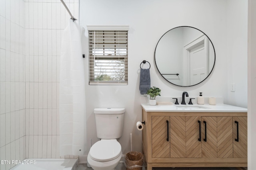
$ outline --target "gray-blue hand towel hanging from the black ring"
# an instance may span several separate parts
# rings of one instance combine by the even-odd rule
[[[140,94],[147,94],[150,88],[150,72],[148,69],[140,69]]]

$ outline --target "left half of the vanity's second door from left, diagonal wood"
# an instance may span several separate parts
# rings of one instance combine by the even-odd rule
[[[170,117],[170,157],[186,158],[186,117]]]

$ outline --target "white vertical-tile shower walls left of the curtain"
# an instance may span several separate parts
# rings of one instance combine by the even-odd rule
[[[65,2],[78,18],[78,0]],[[0,0],[0,160],[60,157],[58,69],[69,18],[59,0]]]

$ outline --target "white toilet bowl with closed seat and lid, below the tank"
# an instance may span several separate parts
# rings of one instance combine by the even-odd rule
[[[122,158],[122,148],[116,139],[102,139],[92,145],[87,162],[94,170],[115,170]]]

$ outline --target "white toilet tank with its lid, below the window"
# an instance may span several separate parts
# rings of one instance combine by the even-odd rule
[[[124,127],[124,108],[95,108],[97,137],[100,139],[118,139]]]

